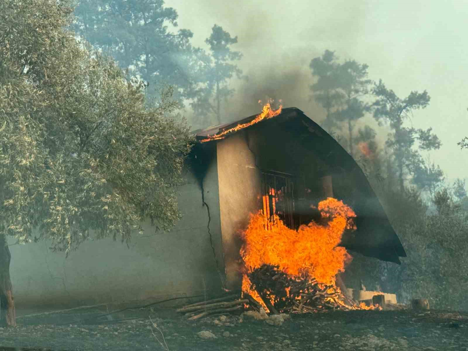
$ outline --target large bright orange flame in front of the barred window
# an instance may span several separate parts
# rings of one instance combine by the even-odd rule
[[[334,285],[336,273],[344,271],[345,264],[351,260],[346,249],[337,245],[356,214],[342,201],[331,197],[320,202],[318,209],[322,217],[330,218],[327,225],[311,222],[297,231],[286,227],[276,214],[273,214],[276,225],[266,230],[262,211],[251,215],[241,248],[247,271],[262,264],[278,265],[288,275],[300,277],[308,273],[320,283]],[[250,293],[250,289],[246,292]]]

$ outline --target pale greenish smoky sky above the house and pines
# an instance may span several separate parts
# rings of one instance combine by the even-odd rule
[[[256,114],[259,99],[282,99],[317,123],[324,111],[310,101],[310,60],[329,49],[344,59],[369,65],[369,78],[382,79],[404,98],[427,90],[430,105],[407,123],[432,127],[442,141],[431,160],[447,181],[468,178],[468,150],[457,142],[468,136],[468,1],[359,0],[166,0],[178,14],[179,28],[204,40],[213,24],[238,37],[239,67],[248,81],[233,81],[231,120]],[[367,121],[372,123],[369,117]],[[380,134],[381,139],[386,133]],[[428,156],[424,154],[424,156]]]

